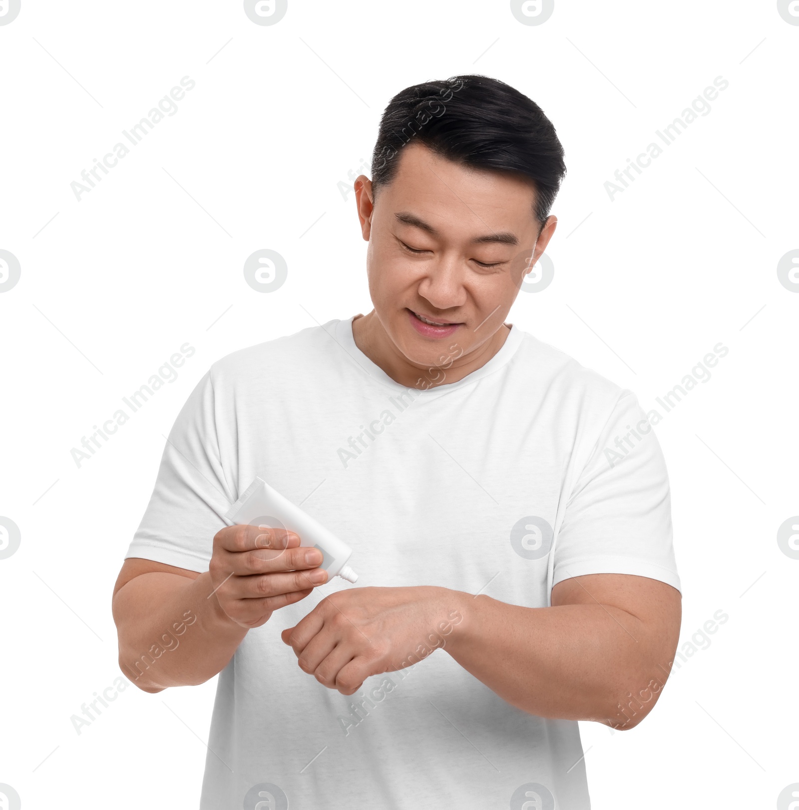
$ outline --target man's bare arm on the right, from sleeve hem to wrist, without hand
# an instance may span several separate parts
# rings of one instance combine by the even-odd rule
[[[619,730],[640,723],[657,702],[682,613],[672,586],[618,573],[559,582],[551,608],[482,595],[462,603],[464,620],[444,649],[499,697],[540,717]]]

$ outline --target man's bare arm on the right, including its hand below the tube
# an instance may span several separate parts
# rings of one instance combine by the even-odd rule
[[[283,641],[303,671],[343,694],[440,646],[530,714],[627,729],[661,693],[680,616],[678,590],[627,574],[560,582],[550,608],[430,586],[355,588],[323,599]]]

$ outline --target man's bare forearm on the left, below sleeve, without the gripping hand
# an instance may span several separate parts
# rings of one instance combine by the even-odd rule
[[[119,663],[146,692],[202,684],[230,661],[247,629],[219,607],[209,573],[142,573],[113,598]]]

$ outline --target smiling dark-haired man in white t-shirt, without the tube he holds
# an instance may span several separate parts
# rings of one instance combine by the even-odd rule
[[[199,382],[117,582],[121,667],[146,692],[221,672],[207,810],[588,808],[576,721],[652,709],[680,583],[633,394],[505,322],[563,148],[461,76],[395,96],[372,165],[374,309]],[[230,525],[256,475],[351,546],[357,586]]]

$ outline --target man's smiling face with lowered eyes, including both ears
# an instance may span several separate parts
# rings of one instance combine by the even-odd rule
[[[412,365],[465,360],[503,325],[555,217],[538,236],[533,185],[511,174],[465,168],[418,143],[395,160],[376,203],[371,181],[355,181],[376,316]]]

